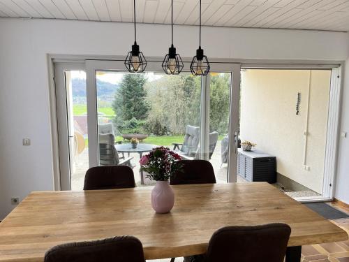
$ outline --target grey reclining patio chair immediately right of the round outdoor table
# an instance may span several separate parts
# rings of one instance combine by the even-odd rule
[[[186,134],[184,135],[184,142],[172,143],[173,150],[177,150],[179,154],[190,154],[198,149],[200,142],[200,127],[186,126]],[[180,146],[180,147],[179,147]]]

